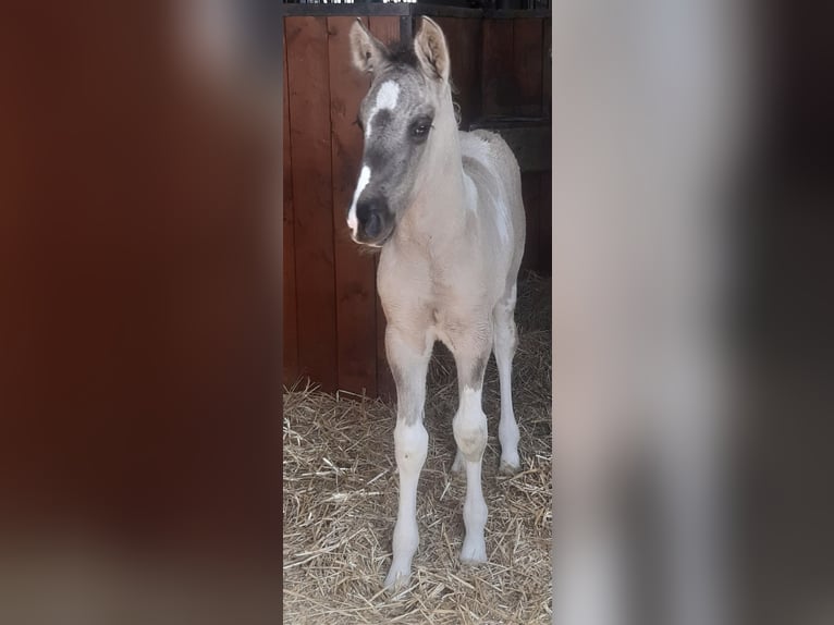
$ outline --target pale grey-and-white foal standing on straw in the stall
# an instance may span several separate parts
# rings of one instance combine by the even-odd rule
[[[453,420],[453,470],[466,471],[461,560],[487,561],[481,388],[494,350],[501,470],[512,474],[520,466],[511,369],[525,221],[520,173],[507,145],[492,133],[457,130],[440,27],[424,17],[412,46],[389,49],[357,21],[351,47],[354,64],[372,82],[359,111],[365,151],[347,224],[354,241],[381,248],[377,286],[397,395],[400,507],[385,579],[392,588],[407,581],[419,543],[417,481],[428,449],[426,372],[437,340],[454,354],[461,397]]]

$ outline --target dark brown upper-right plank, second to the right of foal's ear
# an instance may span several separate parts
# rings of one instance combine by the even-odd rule
[[[513,114],[518,101],[513,74],[513,21],[483,20],[482,50],[482,114]]]

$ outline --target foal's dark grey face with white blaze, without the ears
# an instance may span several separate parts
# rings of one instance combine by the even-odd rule
[[[368,172],[348,217],[358,243],[382,245],[414,197],[434,119],[432,88],[417,69],[392,65],[361,102],[357,123]]]

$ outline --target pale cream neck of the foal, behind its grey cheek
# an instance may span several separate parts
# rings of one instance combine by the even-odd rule
[[[418,179],[417,194],[397,226],[401,234],[410,240],[438,241],[465,228],[461,142],[449,91],[434,118],[432,133],[431,151]]]

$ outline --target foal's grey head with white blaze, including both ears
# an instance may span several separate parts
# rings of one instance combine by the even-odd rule
[[[371,75],[357,122],[365,134],[359,181],[347,215],[354,241],[379,247],[427,184],[437,115],[449,97],[449,50],[440,27],[422,19],[409,46],[388,48],[360,21],[351,30],[354,65]]]

